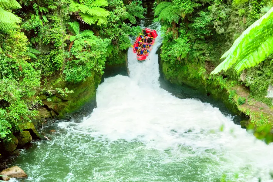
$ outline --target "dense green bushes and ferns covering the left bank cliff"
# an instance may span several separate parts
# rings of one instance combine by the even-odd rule
[[[37,95],[72,92],[47,89],[52,76],[78,83],[102,74],[145,12],[138,0],[0,0],[0,139],[37,115]]]

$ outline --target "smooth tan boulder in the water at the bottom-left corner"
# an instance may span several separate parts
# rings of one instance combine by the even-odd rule
[[[8,169],[3,170],[0,175],[5,176],[2,177],[4,181],[9,180],[10,178],[15,178],[15,177],[28,177],[27,174],[25,174],[25,171],[23,171],[20,167],[18,166],[13,166]]]

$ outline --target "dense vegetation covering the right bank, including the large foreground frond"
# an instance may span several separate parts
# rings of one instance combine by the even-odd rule
[[[273,84],[272,6],[272,0],[154,3],[155,21],[162,24],[161,62],[166,78],[204,92],[208,89],[218,98],[225,89],[229,96],[221,99],[251,117],[248,126],[258,126],[258,138],[270,135],[266,142],[273,141],[272,133],[267,135],[273,127],[273,100],[267,97]],[[237,88],[243,91],[237,93]],[[263,107],[257,109],[258,101],[257,106],[267,107],[266,115]]]

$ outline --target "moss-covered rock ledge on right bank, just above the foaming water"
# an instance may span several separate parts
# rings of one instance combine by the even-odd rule
[[[238,82],[222,76],[205,75],[205,79],[199,76],[200,64],[187,63],[185,66],[175,67],[168,62],[161,61],[161,69],[164,77],[171,83],[186,84],[203,93],[211,93],[214,99],[221,100],[231,112],[244,113],[249,116],[250,123],[254,127],[269,123],[273,126],[273,109],[265,103],[250,98],[250,90],[238,85]],[[206,74],[206,73],[205,73]],[[237,84],[236,84],[237,83]],[[260,108],[263,108],[260,110]],[[244,125],[245,126],[245,125]],[[244,127],[243,126],[243,127]]]

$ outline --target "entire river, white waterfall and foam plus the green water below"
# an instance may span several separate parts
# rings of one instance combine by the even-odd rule
[[[161,42],[159,36],[144,62],[130,48],[130,76],[104,79],[97,108],[80,122],[44,128],[56,130],[47,134],[51,141],[33,142],[12,162],[29,178],[10,181],[272,182],[272,143],[257,140],[209,103],[160,88]]]

